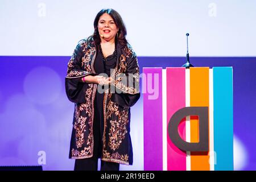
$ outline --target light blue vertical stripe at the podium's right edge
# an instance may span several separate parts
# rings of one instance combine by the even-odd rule
[[[214,170],[234,170],[233,68],[213,67]]]

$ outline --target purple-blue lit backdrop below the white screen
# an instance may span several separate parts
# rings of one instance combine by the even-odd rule
[[[47,159],[44,170],[73,169],[74,161],[68,159],[73,104],[64,90],[68,60],[68,56],[0,56],[0,166],[38,165],[38,152],[43,151]],[[141,73],[143,67],[180,67],[184,63],[184,57],[139,57]],[[233,67],[234,135],[248,152],[243,169],[256,170],[256,57],[191,57],[191,63],[195,67]],[[137,118],[143,117],[142,106],[143,97],[131,111]],[[134,148],[135,154],[136,150],[143,148]]]

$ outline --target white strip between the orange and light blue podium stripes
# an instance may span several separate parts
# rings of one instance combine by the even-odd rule
[[[213,137],[213,69],[209,69],[209,163],[210,171],[214,171],[214,137]]]

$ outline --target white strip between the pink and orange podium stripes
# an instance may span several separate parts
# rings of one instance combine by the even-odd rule
[[[186,107],[190,106],[190,71],[185,70],[185,94],[186,94]],[[190,142],[190,117],[186,117],[186,141]],[[187,171],[191,171],[191,157],[190,151],[187,152],[186,156]]]

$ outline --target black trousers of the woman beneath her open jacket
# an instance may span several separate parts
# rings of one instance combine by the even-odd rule
[[[97,171],[98,158],[101,158],[102,153],[102,113],[100,109],[95,110],[95,118],[93,121],[93,156],[92,158],[76,159],[75,171]],[[101,160],[101,171],[119,171],[119,163],[105,162]]]

